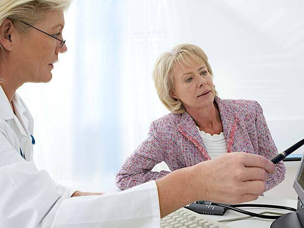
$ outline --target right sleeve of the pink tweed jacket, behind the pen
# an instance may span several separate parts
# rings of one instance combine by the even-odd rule
[[[255,125],[257,131],[259,155],[271,160],[278,155],[278,149],[270,134],[270,130],[267,126],[261,106],[257,102],[255,102],[255,106]],[[285,172],[286,168],[283,164],[283,161],[281,161],[276,165],[276,173],[269,175],[269,178],[266,182],[265,191],[268,191],[269,189],[281,183],[285,178]]]

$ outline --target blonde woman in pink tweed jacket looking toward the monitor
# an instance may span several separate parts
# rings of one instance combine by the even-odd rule
[[[173,171],[232,152],[267,159],[278,154],[256,101],[216,96],[212,70],[201,48],[181,44],[162,54],[153,79],[160,100],[171,113],[151,123],[148,138],[116,175],[119,188],[127,189],[167,175],[168,171],[151,171],[162,161]],[[276,166],[276,171],[269,175],[265,191],[284,180],[283,162]]]

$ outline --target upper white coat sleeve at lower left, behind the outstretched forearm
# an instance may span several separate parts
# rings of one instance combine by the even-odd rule
[[[0,132],[0,227],[50,227],[68,197],[66,188],[33,162],[25,162]]]

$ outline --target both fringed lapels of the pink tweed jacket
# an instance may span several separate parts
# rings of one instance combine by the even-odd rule
[[[236,116],[234,110],[231,107],[227,106],[224,101],[215,96],[214,102],[216,103],[220,118],[222,121],[223,131],[225,134],[226,142],[227,142],[227,150],[228,152],[232,151],[232,143],[234,140],[234,135],[236,131]],[[197,129],[196,123],[192,119],[192,117],[185,111],[181,115],[181,120],[178,124],[178,130],[181,132],[183,136],[185,136],[188,140],[193,142],[205,158],[210,159],[206,146],[204,144],[203,139],[201,138],[199,131]]]

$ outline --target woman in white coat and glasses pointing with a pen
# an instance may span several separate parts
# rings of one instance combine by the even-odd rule
[[[58,54],[67,50],[62,30],[69,4],[69,0],[0,2],[0,227],[155,228],[160,227],[160,217],[197,200],[256,199],[275,167],[261,156],[245,153],[102,195],[70,192],[46,171],[36,169],[33,118],[16,90],[26,82],[52,79]]]

